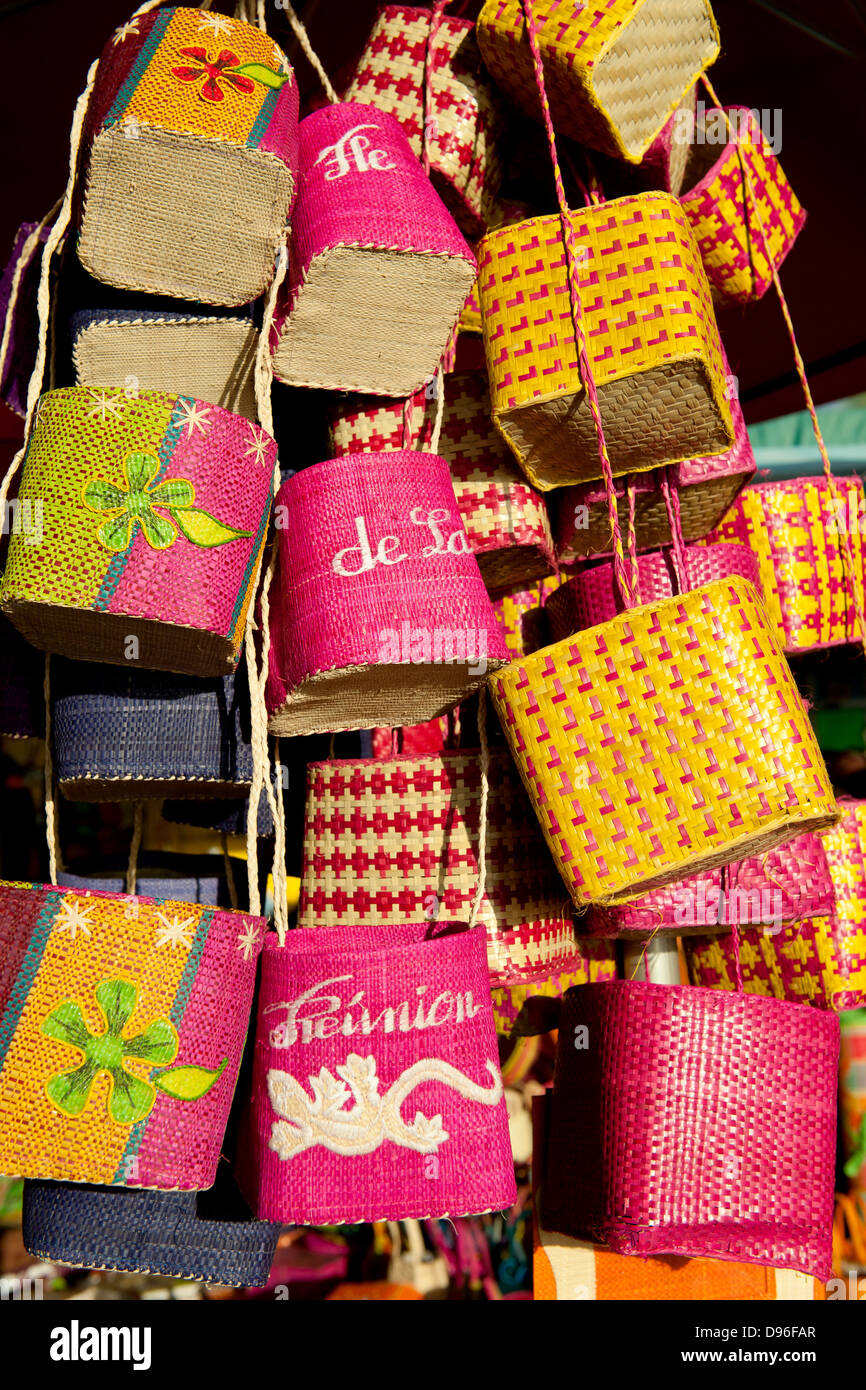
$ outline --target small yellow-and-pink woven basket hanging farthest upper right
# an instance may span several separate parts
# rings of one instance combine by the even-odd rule
[[[799,236],[806,213],[760,121],[748,107],[708,111],[687,149],[687,186],[680,197],[695,229],[713,295],[720,303],[746,304],[760,299],[773,284],[767,252],[778,268]],[[746,193],[744,165],[753,195]]]

